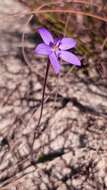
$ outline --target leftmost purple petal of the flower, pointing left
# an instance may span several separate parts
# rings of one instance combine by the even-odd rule
[[[41,43],[35,48],[34,52],[40,55],[49,55],[51,54],[51,49],[48,45]]]

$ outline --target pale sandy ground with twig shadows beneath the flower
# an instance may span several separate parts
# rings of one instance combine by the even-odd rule
[[[50,70],[41,125],[33,157],[46,65],[21,54],[23,30],[31,36],[28,10],[15,0],[0,0],[0,190],[107,189],[107,81]],[[35,44],[26,40],[32,52]],[[35,114],[32,113],[35,110]],[[29,122],[30,121],[30,122]]]

